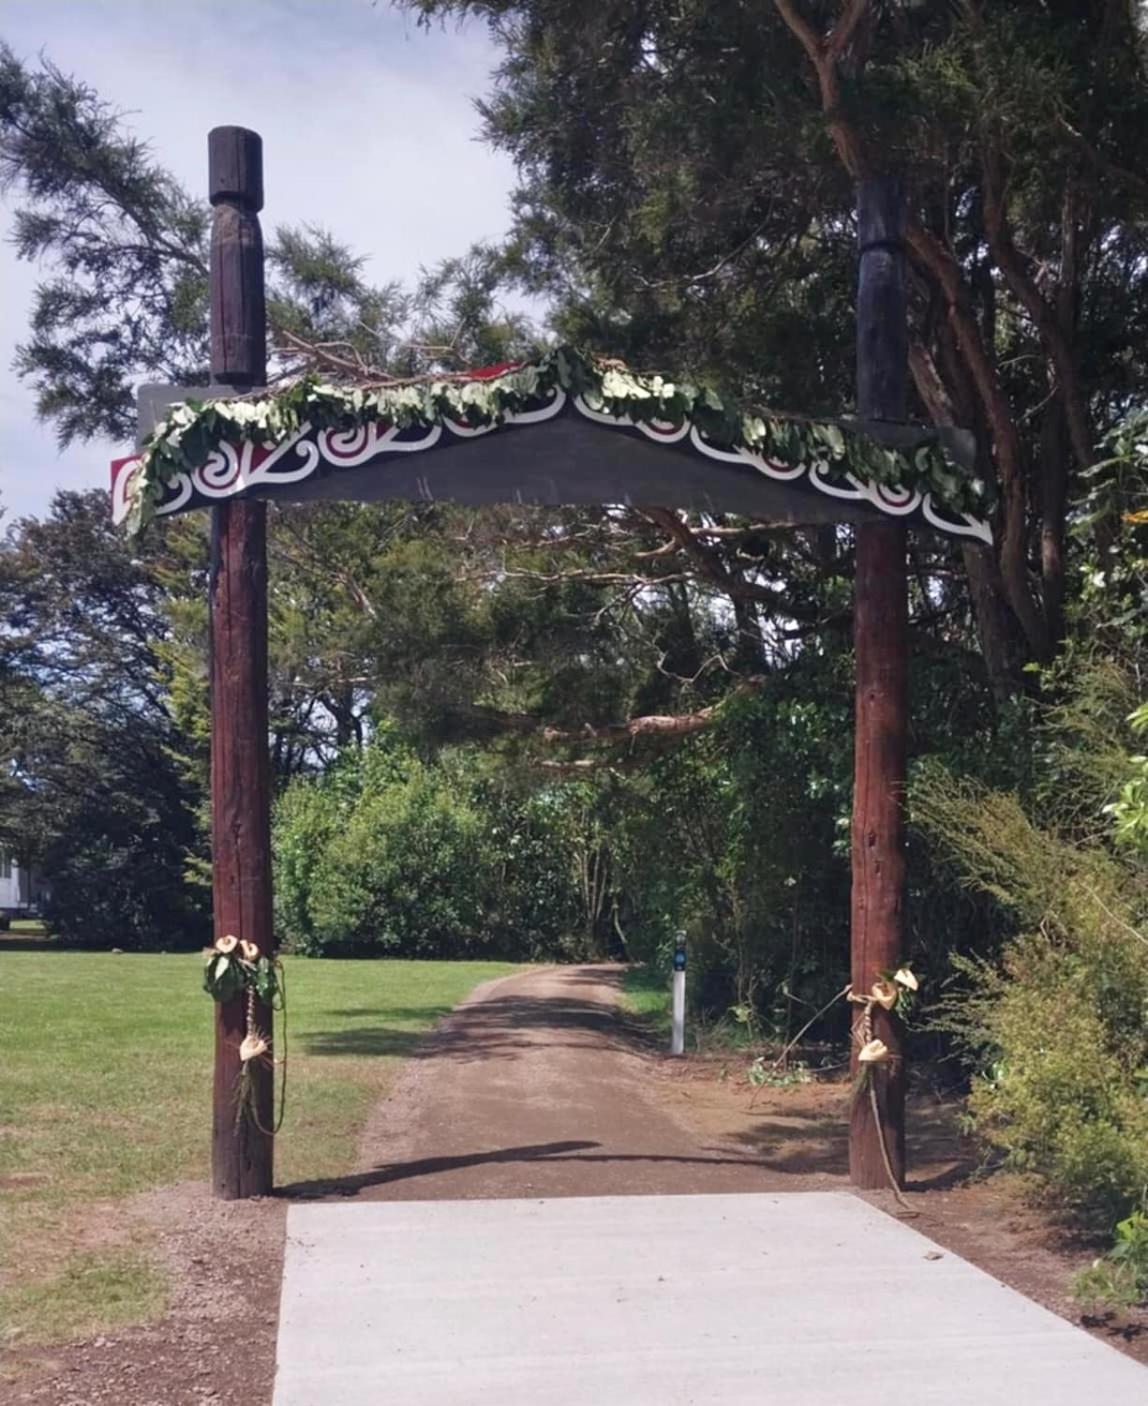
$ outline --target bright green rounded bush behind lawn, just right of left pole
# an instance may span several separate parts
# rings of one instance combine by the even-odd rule
[[[281,941],[312,955],[555,956],[576,925],[565,815],[384,735],[275,817]]]

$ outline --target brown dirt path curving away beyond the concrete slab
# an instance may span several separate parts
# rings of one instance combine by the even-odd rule
[[[659,1098],[660,1062],[620,987],[610,966],[481,987],[377,1109],[361,1173],[311,1189],[388,1201],[766,1189],[757,1157],[698,1142]]]

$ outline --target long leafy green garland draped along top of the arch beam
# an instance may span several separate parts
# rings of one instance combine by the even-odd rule
[[[163,486],[171,478],[197,468],[225,443],[281,441],[306,426],[347,430],[381,423],[409,429],[444,419],[472,427],[499,425],[559,387],[603,415],[646,425],[680,426],[691,420],[721,449],[746,449],[792,467],[823,465],[866,482],[919,488],[958,512],[986,509],[985,485],[964,474],[936,441],[926,441],[912,453],[888,449],[847,425],[745,411],[711,387],[634,371],[618,361],[558,347],[535,363],[511,366],[493,375],[385,384],[334,384],[308,375],[266,394],[190,399],[167,415],[145,446],[132,486],[129,527],[139,530],[155,516]]]

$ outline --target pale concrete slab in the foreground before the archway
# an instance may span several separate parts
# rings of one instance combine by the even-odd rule
[[[295,1205],[274,1406],[1104,1406],[1148,1371],[846,1192]]]

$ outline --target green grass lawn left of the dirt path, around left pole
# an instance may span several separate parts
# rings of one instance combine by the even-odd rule
[[[0,1347],[163,1308],[146,1247],[101,1226],[115,1199],[205,1178],[212,1005],[202,959],[0,948]],[[358,1132],[419,1035],[496,962],[288,957],[280,1184],[353,1170]],[[101,1243],[111,1239],[111,1244]]]

